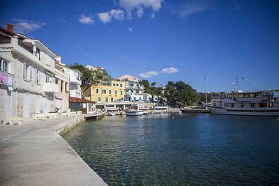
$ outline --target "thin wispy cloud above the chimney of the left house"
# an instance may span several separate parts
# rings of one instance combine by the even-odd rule
[[[32,22],[29,20],[20,20],[20,19],[14,19],[15,22],[15,32],[19,33],[28,33],[29,31],[35,31],[43,26],[46,25],[45,22]]]

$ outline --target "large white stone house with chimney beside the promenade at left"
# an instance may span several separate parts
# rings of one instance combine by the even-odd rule
[[[13,33],[13,24],[0,27],[0,123],[56,112],[61,76],[56,74],[55,61],[59,59],[40,40]],[[66,91],[66,84],[62,86]]]

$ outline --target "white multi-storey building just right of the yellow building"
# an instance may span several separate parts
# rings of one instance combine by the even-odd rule
[[[123,75],[118,78],[125,81],[126,95],[128,101],[149,101],[149,95],[144,93],[144,86],[140,85],[140,79],[131,75]]]

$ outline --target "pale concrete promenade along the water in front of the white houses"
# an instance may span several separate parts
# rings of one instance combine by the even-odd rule
[[[0,125],[0,185],[106,185],[59,135],[82,118]]]

